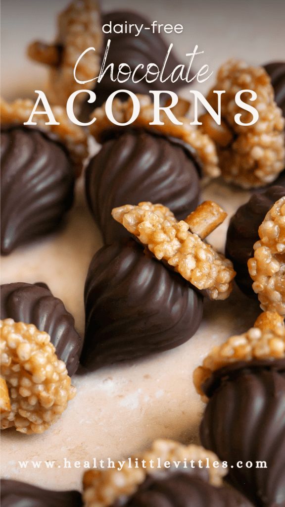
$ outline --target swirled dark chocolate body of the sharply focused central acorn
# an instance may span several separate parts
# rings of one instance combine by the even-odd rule
[[[199,327],[203,301],[130,239],[104,246],[93,257],[85,312],[81,363],[95,370],[186,342]]]

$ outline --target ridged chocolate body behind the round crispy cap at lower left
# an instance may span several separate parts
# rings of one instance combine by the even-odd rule
[[[34,324],[50,335],[57,356],[69,375],[79,366],[82,339],[74,328],[74,318],[44,283],[6,283],[1,285],[2,319]]]

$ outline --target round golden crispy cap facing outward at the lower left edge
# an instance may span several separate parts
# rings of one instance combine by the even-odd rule
[[[1,429],[43,433],[66,409],[75,387],[47,333],[10,318],[0,320],[0,330]]]

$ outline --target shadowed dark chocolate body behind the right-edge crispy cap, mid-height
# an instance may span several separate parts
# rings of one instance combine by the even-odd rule
[[[226,240],[226,257],[234,265],[237,285],[248,296],[255,296],[247,261],[254,256],[254,244],[259,240],[259,226],[269,209],[283,195],[285,195],[285,188],[281,186],[254,193],[231,218]]]

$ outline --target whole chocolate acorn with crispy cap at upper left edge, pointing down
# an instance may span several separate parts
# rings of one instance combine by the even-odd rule
[[[76,171],[85,156],[86,135],[57,108],[60,125],[24,126],[32,102],[2,101],[1,252],[54,231],[74,198]],[[73,135],[74,134],[74,135]],[[71,146],[72,145],[72,146]]]

